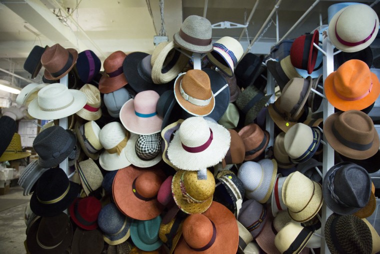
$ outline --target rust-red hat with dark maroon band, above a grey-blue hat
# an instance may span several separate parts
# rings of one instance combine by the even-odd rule
[[[122,68],[125,57],[125,53],[118,50],[104,60],[104,74],[99,80],[100,93],[108,94],[128,84]]]

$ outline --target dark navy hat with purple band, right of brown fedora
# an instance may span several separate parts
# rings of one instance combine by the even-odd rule
[[[78,54],[75,66],[79,79],[89,83],[99,73],[101,62],[92,50],[85,50]]]

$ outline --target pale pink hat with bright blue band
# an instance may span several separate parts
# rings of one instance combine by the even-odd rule
[[[155,91],[147,90],[125,102],[119,114],[125,129],[138,135],[160,132],[162,118],[156,111],[158,99],[159,95]]]

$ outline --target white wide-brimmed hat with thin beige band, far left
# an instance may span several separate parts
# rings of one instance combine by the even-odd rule
[[[86,104],[86,95],[65,85],[54,83],[38,91],[27,112],[35,119],[60,119],[75,114]]]

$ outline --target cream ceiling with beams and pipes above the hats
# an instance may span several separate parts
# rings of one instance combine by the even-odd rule
[[[227,21],[244,25],[256,1],[247,27],[249,42],[256,38],[251,48],[255,54],[269,53],[277,41],[276,28],[278,39],[281,39],[308,9],[311,11],[286,38],[296,38],[322,24],[327,25],[330,5],[353,2],[278,0],[279,6],[274,8],[277,0],[164,0],[165,34],[171,41],[189,15],[205,14],[211,24]],[[377,2],[359,1],[372,4],[375,12],[380,13]],[[272,17],[269,16],[271,12]],[[268,20],[266,24],[265,20]],[[78,52],[90,49],[104,61],[116,50],[151,53],[153,36],[158,35],[160,29],[159,0],[0,0],[0,78],[9,76],[2,71],[5,70],[29,79],[30,74],[23,70],[23,63],[35,45],[44,47],[59,43]],[[212,37],[214,40],[223,36],[238,39],[242,31],[242,28],[213,29]],[[240,43],[245,50],[249,44],[245,33]],[[41,75],[42,71],[34,82],[40,82]],[[20,87],[31,82],[15,80]]]

